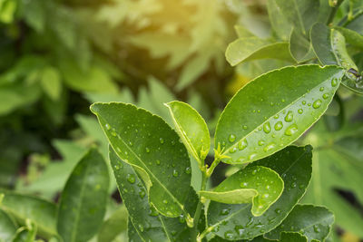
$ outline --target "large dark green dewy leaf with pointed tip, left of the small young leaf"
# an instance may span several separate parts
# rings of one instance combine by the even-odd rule
[[[91,106],[117,155],[137,169],[150,202],[163,215],[188,216],[183,204],[191,184],[191,161],[178,134],[158,116],[122,102]]]

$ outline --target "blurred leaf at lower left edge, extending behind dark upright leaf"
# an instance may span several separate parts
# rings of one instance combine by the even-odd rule
[[[0,208],[14,217],[20,225],[25,225],[26,219],[30,219],[36,225],[39,236],[47,238],[56,235],[54,203],[11,191],[1,192],[5,194],[5,198]]]

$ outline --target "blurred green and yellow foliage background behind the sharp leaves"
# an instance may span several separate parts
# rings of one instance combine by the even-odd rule
[[[107,157],[93,102],[132,102],[172,124],[162,103],[181,100],[201,112],[212,134],[240,87],[289,64],[258,60],[232,68],[225,60],[236,31],[278,38],[267,2],[0,0],[0,187],[57,200],[90,146]],[[338,19],[348,13],[346,2]],[[362,50],[349,52],[362,70]],[[333,241],[363,237],[362,121],[363,98],[340,88],[297,142],[315,148],[302,202],[335,212]],[[221,165],[211,186],[231,172]],[[109,214],[120,203],[114,182],[110,191]]]

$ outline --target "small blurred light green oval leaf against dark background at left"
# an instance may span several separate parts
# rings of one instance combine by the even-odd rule
[[[58,100],[62,94],[61,76],[54,67],[47,67],[43,70],[41,84],[44,92],[53,100]]]

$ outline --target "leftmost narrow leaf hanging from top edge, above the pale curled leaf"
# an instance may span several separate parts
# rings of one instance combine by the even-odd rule
[[[267,1],[267,10],[269,12],[270,24],[273,30],[281,40],[289,40],[292,26],[281,13],[281,9],[279,5],[276,4],[276,0]]]

